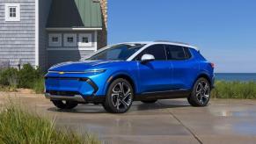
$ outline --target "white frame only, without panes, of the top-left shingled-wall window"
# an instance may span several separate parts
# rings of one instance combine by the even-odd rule
[[[10,8],[16,8],[16,17],[10,17]],[[5,21],[20,21],[20,4],[5,4]]]

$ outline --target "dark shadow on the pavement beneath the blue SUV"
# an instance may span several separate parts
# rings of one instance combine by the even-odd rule
[[[158,100],[154,104],[143,104],[141,102],[135,102],[128,112],[141,112],[150,110],[165,110],[174,108],[190,107],[185,101],[180,100]],[[104,110],[101,104],[80,104],[72,110],[62,110],[56,107],[48,108],[51,112],[70,112],[70,113],[108,113]]]

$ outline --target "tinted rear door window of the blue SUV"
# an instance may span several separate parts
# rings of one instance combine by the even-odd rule
[[[183,47],[166,46],[168,60],[186,60],[187,55]]]

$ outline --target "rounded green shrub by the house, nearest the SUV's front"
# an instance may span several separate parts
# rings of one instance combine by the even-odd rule
[[[30,64],[23,65],[18,71],[18,87],[33,89],[35,81],[41,77],[39,69],[33,68]]]

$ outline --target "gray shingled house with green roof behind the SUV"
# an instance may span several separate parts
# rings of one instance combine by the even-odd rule
[[[1,0],[0,67],[43,70],[106,46],[106,0]]]

